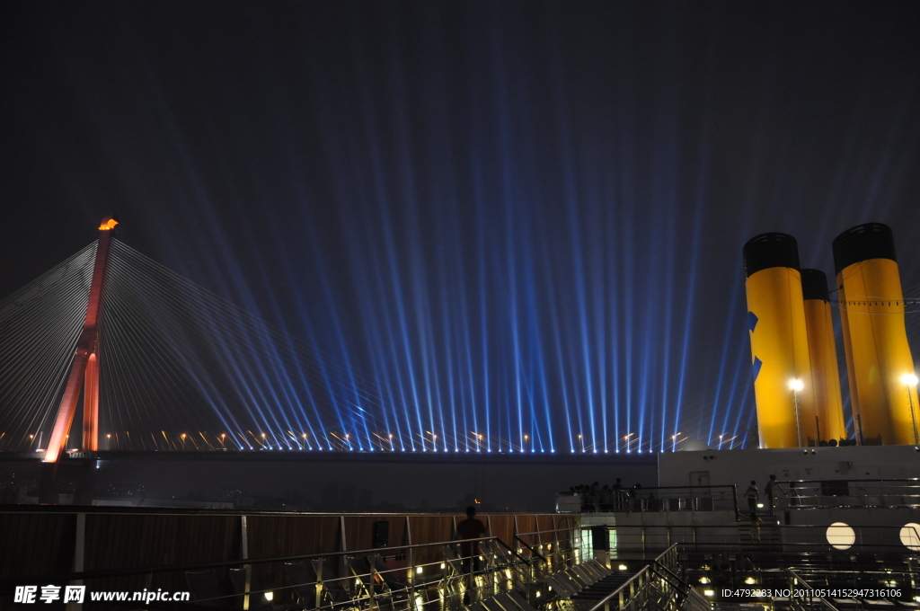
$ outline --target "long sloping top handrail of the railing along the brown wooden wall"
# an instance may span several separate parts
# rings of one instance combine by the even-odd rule
[[[463,539],[463,541],[470,542],[482,542],[482,541],[498,541],[505,548],[511,549],[507,544],[504,543],[497,536],[483,536],[477,539]],[[390,548],[385,548],[387,551],[393,549],[417,549],[417,548],[432,548],[440,547],[445,545],[455,545],[460,543],[460,540],[453,541],[438,541],[435,543],[416,543],[412,545],[404,546],[393,546]],[[320,552],[314,554],[299,554],[296,556],[276,556],[273,558],[252,558],[252,559],[240,559],[240,560],[220,560],[217,562],[197,562],[193,564],[164,564],[154,567],[135,567],[133,569],[115,569],[107,571],[78,571],[78,572],[67,572],[67,573],[58,573],[53,575],[30,575],[24,577],[11,577],[0,580],[0,588],[6,587],[9,585],[16,585],[17,583],[22,583],[25,580],[29,582],[34,582],[37,579],[41,581],[48,582],[70,582],[75,580],[84,580],[84,579],[99,579],[103,577],[124,577],[127,575],[148,575],[152,573],[162,573],[162,572],[174,572],[174,571],[199,571],[203,569],[219,569],[223,567],[233,567],[238,565],[247,565],[247,564],[265,564],[269,562],[286,562],[294,560],[308,560],[308,559],[320,559],[320,558],[338,558],[338,557],[357,557],[357,556],[370,556],[372,554],[379,554],[382,548],[370,548],[370,549],[353,549],[346,551],[330,551],[330,552]],[[513,550],[512,550],[513,551]],[[387,554],[388,555],[388,554]],[[523,559],[522,556],[515,552],[515,555]],[[523,559],[526,562],[526,559]],[[337,579],[345,579],[339,577]]]

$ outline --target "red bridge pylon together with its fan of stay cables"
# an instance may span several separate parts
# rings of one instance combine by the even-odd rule
[[[0,302],[0,451],[436,449],[371,381],[116,228]]]

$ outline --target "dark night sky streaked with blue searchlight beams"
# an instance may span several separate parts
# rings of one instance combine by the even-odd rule
[[[443,439],[742,443],[759,233],[889,224],[920,296],[916,2],[0,10],[0,297],[117,213]]]

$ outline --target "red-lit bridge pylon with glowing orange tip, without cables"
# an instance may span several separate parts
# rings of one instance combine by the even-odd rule
[[[86,382],[83,398],[83,449],[98,450],[99,436],[99,320],[102,318],[102,289],[109,266],[109,246],[118,221],[109,216],[99,225],[99,241],[96,247],[96,263],[93,266],[93,281],[89,287],[89,301],[86,304],[86,318],[83,332],[76,342],[74,360],[70,364],[67,386],[64,386],[61,406],[54,419],[51,439],[44,462],[56,463],[66,449],[67,435],[74,423],[76,402],[80,388]]]

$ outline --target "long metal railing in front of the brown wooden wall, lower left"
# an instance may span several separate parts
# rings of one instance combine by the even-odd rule
[[[180,577],[178,581],[188,582],[192,605],[249,610],[290,601],[302,608],[329,611],[374,611],[382,607],[391,611],[459,611],[465,603],[512,590],[529,596],[546,571],[581,561],[580,532],[575,527],[520,533],[514,543],[517,545],[490,536],[274,558],[74,571],[2,580],[0,591],[38,583],[112,590],[106,586],[112,578],[131,577],[142,578],[145,588],[155,589],[156,575],[173,573],[172,577]],[[472,553],[459,549],[465,544]],[[152,603],[146,608],[167,606],[182,605]]]

